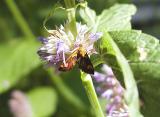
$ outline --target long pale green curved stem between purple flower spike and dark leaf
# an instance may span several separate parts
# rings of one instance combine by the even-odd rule
[[[115,53],[117,62],[123,73],[124,83],[126,87],[125,99],[129,106],[129,115],[130,117],[140,117],[141,114],[139,112],[138,89],[137,89],[136,81],[134,80],[132,70],[129,66],[129,63],[126,60],[126,58],[123,56],[121,51],[119,50],[116,43],[110,37],[108,32],[105,32],[104,38],[105,38],[104,40],[108,41],[108,44],[112,47]]]

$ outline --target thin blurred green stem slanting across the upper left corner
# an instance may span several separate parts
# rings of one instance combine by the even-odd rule
[[[22,16],[22,14],[21,14],[20,10],[18,9],[17,5],[15,4],[14,0],[5,0],[5,2],[6,2],[8,9],[11,11],[12,15],[14,16],[18,26],[20,27],[20,29],[24,33],[24,35],[26,37],[30,37],[27,39],[34,38],[34,35],[31,31],[31,29],[29,28],[26,20]]]

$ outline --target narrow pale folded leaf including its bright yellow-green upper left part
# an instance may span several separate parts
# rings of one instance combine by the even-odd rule
[[[133,77],[132,70],[127,60],[125,59],[125,57],[119,50],[118,46],[107,32],[104,33],[102,39],[99,40],[99,43],[97,45],[99,45],[98,51],[101,55],[101,58],[105,60],[105,55],[111,54],[116,59],[114,59],[114,63],[118,63],[124,78],[124,83],[126,87],[125,100],[129,107],[130,116],[140,117],[141,114],[139,113],[139,99],[137,86]]]

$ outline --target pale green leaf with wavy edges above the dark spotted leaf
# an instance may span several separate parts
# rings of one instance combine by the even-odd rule
[[[80,15],[87,25],[93,28],[93,31],[129,30],[131,29],[131,16],[136,12],[134,5],[116,4],[96,17],[95,11],[87,5],[84,6],[80,9]]]

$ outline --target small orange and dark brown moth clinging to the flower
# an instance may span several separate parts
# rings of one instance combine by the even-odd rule
[[[67,58],[66,64],[62,63],[59,66],[60,71],[69,71],[71,70],[76,64],[78,67],[88,74],[94,74],[94,67],[89,59],[87,51],[80,46],[72,54]]]

